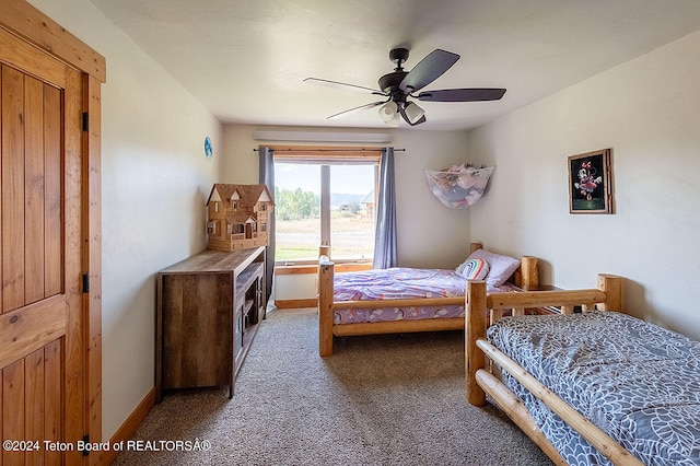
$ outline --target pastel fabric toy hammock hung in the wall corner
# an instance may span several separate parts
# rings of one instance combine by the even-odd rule
[[[493,166],[475,168],[471,165],[453,165],[440,172],[425,171],[430,191],[451,209],[464,209],[481,198]]]

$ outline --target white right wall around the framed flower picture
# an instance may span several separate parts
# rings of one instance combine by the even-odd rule
[[[545,260],[545,280],[628,278],[635,315],[700,338],[700,33],[469,133],[493,162],[471,237]],[[612,148],[617,213],[570,214],[567,158]]]

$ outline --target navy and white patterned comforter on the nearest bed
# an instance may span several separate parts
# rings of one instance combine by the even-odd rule
[[[700,465],[700,341],[616,312],[505,317],[488,339],[648,465]],[[571,465],[603,455],[504,372]]]

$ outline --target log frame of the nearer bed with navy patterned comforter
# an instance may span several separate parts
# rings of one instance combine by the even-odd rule
[[[487,293],[483,281],[471,281],[467,286],[466,301],[466,395],[469,404],[485,406],[488,394],[555,464],[568,464],[537,427],[525,405],[491,372],[492,364],[487,364],[488,358],[514,376],[615,465],[642,465],[630,452],[486,340],[488,322],[494,322],[505,310],[512,310],[514,315],[522,314],[524,308],[541,306],[561,306],[563,314],[573,313],[575,305],[581,305],[584,312],[593,308],[621,311],[620,277],[598,275],[597,289],[523,293]]]

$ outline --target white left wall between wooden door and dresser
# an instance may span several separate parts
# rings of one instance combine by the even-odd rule
[[[31,0],[107,60],[102,86],[103,439],[154,384],[154,273],[205,248],[221,126],[88,0]],[[213,160],[203,154],[212,138]]]

